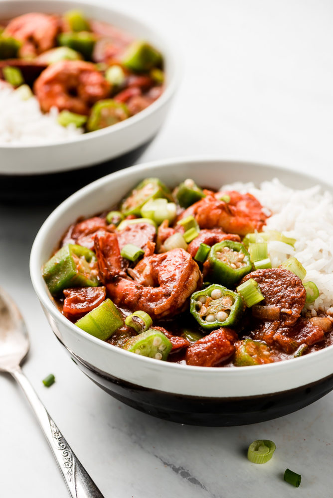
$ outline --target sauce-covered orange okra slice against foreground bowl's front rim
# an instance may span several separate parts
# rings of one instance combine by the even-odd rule
[[[272,363],[272,352],[266,343],[244,339],[235,344],[234,365],[236,367],[246,367],[251,365],[262,365]]]

